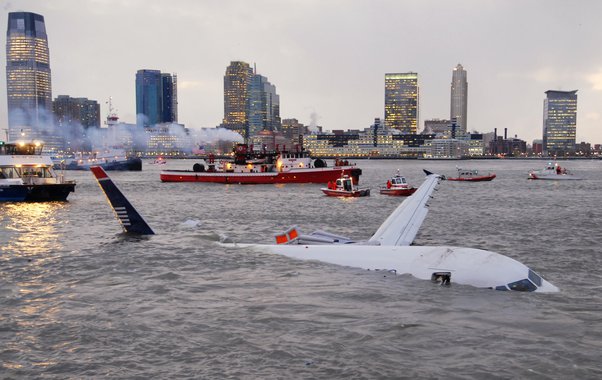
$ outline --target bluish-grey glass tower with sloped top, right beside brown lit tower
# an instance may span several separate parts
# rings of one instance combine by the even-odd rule
[[[253,74],[249,82],[249,137],[280,130],[280,97],[268,78]]]

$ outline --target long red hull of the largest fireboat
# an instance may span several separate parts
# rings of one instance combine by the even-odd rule
[[[164,170],[163,182],[209,182],[232,184],[272,184],[272,183],[328,183],[348,174],[353,183],[359,182],[362,170],[354,166],[334,168],[293,169],[287,172],[268,173],[224,173],[194,172],[191,170]]]

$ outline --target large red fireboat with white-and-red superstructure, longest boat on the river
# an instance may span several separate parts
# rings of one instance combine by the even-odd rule
[[[228,184],[272,184],[272,183],[326,183],[335,181],[348,173],[354,184],[359,182],[362,170],[349,162],[336,160],[328,167],[320,158],[312,160],[305,150],[253,151],[253,146],[237,144],[233,160],[196,163],[192,170],[163,170],[163,182],[213,182]]]

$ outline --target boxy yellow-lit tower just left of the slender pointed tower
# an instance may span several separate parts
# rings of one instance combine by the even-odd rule
[[[385,126],[416,133],[418,125],[418,74],[385,74]]]

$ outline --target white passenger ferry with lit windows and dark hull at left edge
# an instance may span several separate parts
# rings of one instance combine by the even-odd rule
[[[75,181],[56,174],[40,142],[0,142],[0,202],[66,201]]]

